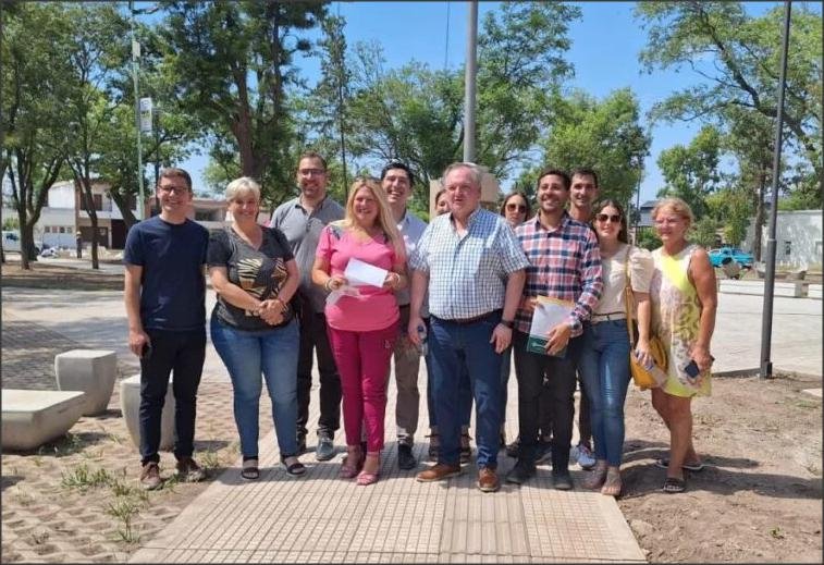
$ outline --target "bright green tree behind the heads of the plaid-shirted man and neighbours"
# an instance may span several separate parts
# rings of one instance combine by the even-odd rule
[[[599,174],[603,196],[629,201],[650,148],[632,91],[615,90],[601,101],[578,91],[557,97],[553,107],[554,124],[541,143],[543,161],[567,170],[589,167]]]

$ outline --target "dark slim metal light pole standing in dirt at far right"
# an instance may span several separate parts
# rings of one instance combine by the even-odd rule
[[[773,292],[775,288],[775,223],[778,217],[778,175],[782,164],[782,134],[784,126],[784,88],[787,75],[787,48],[789,46],[789,21],[791,2],[784,3],[784,34],[782,37],[782,67],[778,76],[778,110],[775,116],[775,147],[773,152],[773,204],[770,208],[770,234],[766,239],[766,273],[764,275],[764,309],[761,319],[761,372],[762,379],[773,376],[770,349],[773,336]]]

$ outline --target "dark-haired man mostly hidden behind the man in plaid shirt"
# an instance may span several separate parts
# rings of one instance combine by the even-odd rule
[[[598,173],[592,169],[575,169],[569,187],[569,216],[574,220],[591,225],[592,207],[598,196]],[[574,352],[574,354],[577,354],[577,352]],[[595,456],[592,454],[592,425],[590,422],[589,397],[585,393],[583,379],[581,379],[580,371],[577,371],[577,373],[578,390],[581,393],[578,409],[579,439],[578,445],[571,450],[570,458],[575,458],[582,469],[591,469],[595,466]]]

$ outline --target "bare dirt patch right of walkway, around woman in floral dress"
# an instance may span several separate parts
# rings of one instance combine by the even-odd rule
[[[625,492],[618,505],[651,562],[821,563],[821,379],[716,378],[693,401],[708,467],[682,494],[661,492],[668,432],[650,393],[630,384]]]

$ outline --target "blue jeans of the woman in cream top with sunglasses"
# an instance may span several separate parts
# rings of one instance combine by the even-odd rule
[[[626,320],[586,324],[578,367],[590,401],[595,457],[617,467],[624,451],[624,401],[629,385]]]

